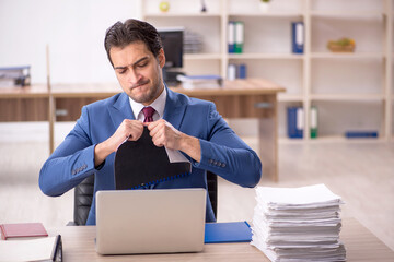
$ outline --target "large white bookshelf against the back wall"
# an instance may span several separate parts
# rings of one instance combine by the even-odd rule
[[[304,130],[300,142],[343,142],[350,129],[376,130],[379,141],[394,141],[394,0],[273,0],[267,12],[259,0],[142,1],[142,19],[157,27],[182,25],[204,37],[201,53],[185,55],[185,72],[227,76],[229,63],[245,63],[247,76],[265,78],[287,88],[279,94],[279,136],[287,139],[286,108],[318,108],[318,136]],[[228,53],[227,25],[245,25],[243,53]],[[291,52],[291,22],[305,25],[304,53]],[[328,40],[350,37],[351,53],[334,53]],[[310,119],[305,118],[305,127]],[[357,140],[351,140],[357,141]]]

